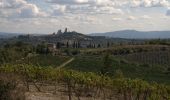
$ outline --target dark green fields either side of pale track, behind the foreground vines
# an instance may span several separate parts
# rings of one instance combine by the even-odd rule
[[[111,66],[108,68],[108,75],[110,77],[114,77],[116,71],[121,71],[126,78],[140,78],[149,82],[170,84],[170,53],[168,46],[130,45],[109,49],[79,50],[80,52],[74,56],[40,54],[15,63],[58,67],[74,58],[64,68],[101,74],[102,68],[105,66],[104,56],[109,53]],[[75,50],[72,49],[72,51]]]

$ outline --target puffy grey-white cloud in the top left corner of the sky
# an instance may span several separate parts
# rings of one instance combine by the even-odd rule
[[[26,0],[1,0],[0,8],[1,14],[3,14],[1,17],[31,18],[47,16],[37,5],[28,3]]]

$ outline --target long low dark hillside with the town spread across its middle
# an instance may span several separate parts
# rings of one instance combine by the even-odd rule
[[[120,44],[120,43],[143,43],[144,40],[137,39],[123,39],[123,38],[108,38],[105,36],[89,36],[86,34],[82,34],[76,31],[72,32],[59,32],[51,33],[51,34],[23,34],[18,35],[17,37],[6,39],[9,43],[14,43],[16,41],[27,42],[33,45],[40,44],[42,42],[45,43],[60,43],[62,47],[73,46],[74,44],[79,45],[80,48],[88,48],[93,46],[97,47],[107,47],[107,44]]]

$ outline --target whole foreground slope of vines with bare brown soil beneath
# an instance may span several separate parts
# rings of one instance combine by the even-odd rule
[[[13,100],[11,95],[13,98],[18,97],[14,100],[24,100],[24,93],[26,100],[169,100],[170,98],[169,86],[123,78],[119,73],[113,79],[91,72],[32,65],[2,66],[0,72],[1,76],[7,78],[0,86],[13,87],[2,90],[1,100]],[[15,75],[18,80],[10,77],[11,75]],[[14,92],[16,90],[17,93]]]

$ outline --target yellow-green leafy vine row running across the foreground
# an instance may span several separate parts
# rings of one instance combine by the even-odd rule
[[[69,100],[81,100],[88,97],[101,100],[169,100],[170,88],[157,83],[148,83],[140,79],[110,78],[92,72],[79,72],[52,67],[33,65],[3,65],[1,74],[17,75],[20,84],[29,91],[31,84],[37,91],[43,92],[45,85],[63,86]],[[76,99],[73,99],[76,97]]]

